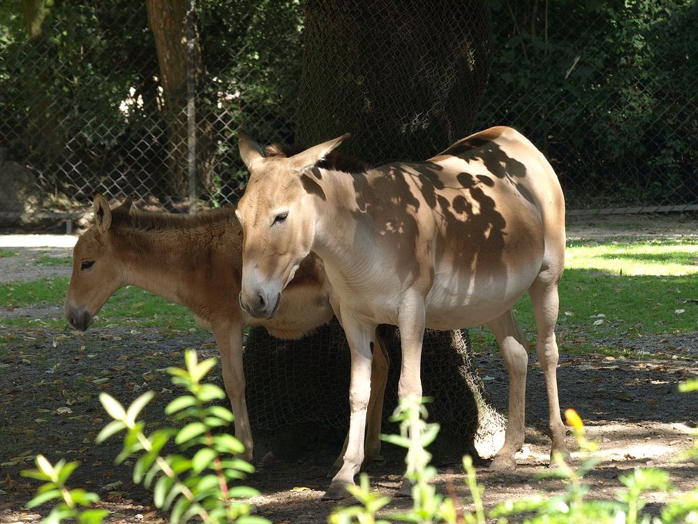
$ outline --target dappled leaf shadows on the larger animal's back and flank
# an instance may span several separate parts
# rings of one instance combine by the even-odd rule
[[[471,289],[473,279],[507,278],[505,250],[511,253],[514,243],[530,240],[513,234],[521,226],[512,212],[511,189],[529,203],[535,201],[524,187],[526,166],[491,141],[500,132],[461,140],[429,161],[388,163],[352,175],[352,216],[357,221],[370,217],[376,242],[403,261],[396,268],[403,281],[419,276],[419,259],[456,268],[451,284],[463,289]],[[454,157],[463,160],[456,164],[459,168]],[[511,223],[507,217],[513,218]],[[436,242],[427,246],[433,224]],[[429,252],[432,247],[436,253]]]

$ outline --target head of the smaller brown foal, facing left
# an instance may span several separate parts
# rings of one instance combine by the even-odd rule
[[[77,239],[73,248],[73,275],[66,295],[66,319],[76,329],[86,330],[92,317],[122,285],[119,265],[112,252],[112,214],[128,213],[131,197],[110,210],[107,199],[94,194],[94,224]]]

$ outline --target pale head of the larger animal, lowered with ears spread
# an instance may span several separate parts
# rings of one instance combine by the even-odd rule
[[[240,156],[250,171],[237,218],[244,233],[240,305],[258,318],[271,318],[315,235],[313,193],[322,191],[311,170],[348,135],[285,156],[265,156],[260,145],[239,133]]]

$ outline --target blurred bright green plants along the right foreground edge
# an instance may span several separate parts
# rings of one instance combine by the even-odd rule
[[[687,384],[683,386],[685,391],[698,389],[698,381]],[[586,439],[584,423],[577,412],[568,409],[565,416],[579,443],[580,463],[577,467],[572,467],[567,462],[567,457],[554,453],[554,468],[540,474],[541,477],[555,477],[563,481],[565,493],[553,497],[538,493],[526,499],[503,502],[493,507],[486,515],[482,503],[484,488],[477,483],[470,457],[463,458],[463,467],[466,470],[466,484],[473,499],[474,511],[456,511],[462,504],[458,500],[439,495],[429,484],[433,479],[434,470],[429,465],[430,456],[424,450],[424,446],[433,440],[438,432],[438,425],[424,422],[426,410],[419,399],[401,400],[394,415],[396,420],[401,421],[400,435],[384,436],[384,439],[408,449],[406,477],[414,483],[413,508],[405,513],[377,517],[376,513],[389,504],[390,499],[371,492],[368,477],[362,475],[359,486],[347,486],[359,505],[337,508],[329,517],[329,522],[484,524],[490,519],[496,519],[497,522],[506,524],[512,517],[517,517],[517,522],[518,518],[522,518],[526,524],[690,524],[698,521],[698,488],[690,493],[681,493],[665,504],[662,507],[661,518],[652,519],[648,514],[642,513],[646,504],[645,493],[671,493],[672,490],[669,474],[656,468],[635,468],[621,475],[619,480],[625,489],[618,490],[616,500],[593,500],[589,486],[584,483],[584,476],[599,462],[594,456],[598,446],[596,442]],[[695,444],[695,449],[698,451],[698,444]]]

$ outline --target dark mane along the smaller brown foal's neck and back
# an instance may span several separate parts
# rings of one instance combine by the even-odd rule
[[[179,214],[120,208],[112,210],[112,227],[124,227],[135,231],[155,231],[165,229],[189,229],[207,224],[215,224],[235,216],[235,206],[228,206],[195,214]],[[93,219],[94,223],[94,219]]]

